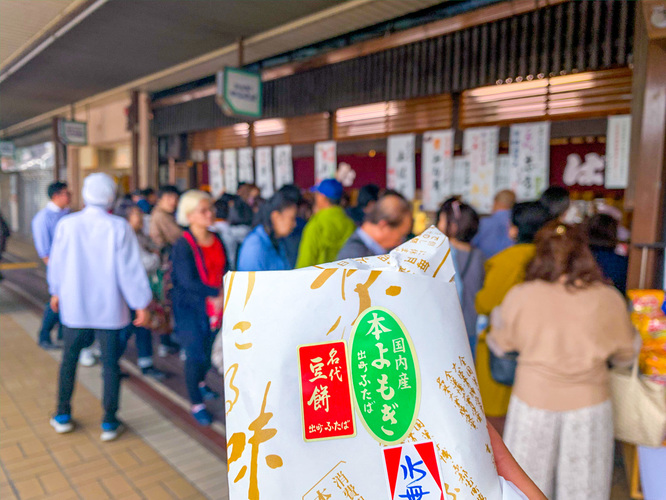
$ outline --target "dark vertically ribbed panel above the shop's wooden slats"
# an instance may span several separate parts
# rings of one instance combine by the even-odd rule
[[[264,82],[263,118],[529,81],[631,62],[633,2],[577,2]],[[224,127],[214,97],[155,109],[153,133]]]

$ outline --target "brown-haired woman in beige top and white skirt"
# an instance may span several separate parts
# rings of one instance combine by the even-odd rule
[[[537,234],[525,283],[493,312],[488,346],[518,351],[504,439],[551,500],[607,500],[613,469],[608,363],[630,364],[626,303],[604,281],[583,231]]]

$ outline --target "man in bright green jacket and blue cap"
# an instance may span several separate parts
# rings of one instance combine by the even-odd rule
[[[326,179],[312,190],[315,193],[315,214],[303,229],[297,268],[336,260],[338,252],[356,230],[354,221],[340,207],[342,184],[335,179]]]

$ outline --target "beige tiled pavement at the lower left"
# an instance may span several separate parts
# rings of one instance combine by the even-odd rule
[[[39,320],[0,288],[0,499],[228,498],[224,460],[127,388],[119,416],[129,430],[99,440],[99,367],[79,368],[78,427],[56,434],[58,354],[35,344]]]

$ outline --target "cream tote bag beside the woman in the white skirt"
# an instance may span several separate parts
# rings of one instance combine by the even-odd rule
[[[641,446],[662,445],[666,438],[666,386],[642,380],[638,362],[631,370],[611,370],[611,401],[616,439]]]

